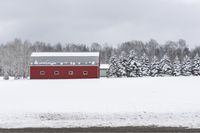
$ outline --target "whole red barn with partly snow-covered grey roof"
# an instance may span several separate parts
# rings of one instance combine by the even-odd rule
[[[98,52],[32,53],[30,79],[99,78]]]

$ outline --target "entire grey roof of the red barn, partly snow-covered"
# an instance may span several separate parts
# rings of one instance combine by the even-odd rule
[[[99,66],[98,52],[39,52],[32,53],[31,65]]]

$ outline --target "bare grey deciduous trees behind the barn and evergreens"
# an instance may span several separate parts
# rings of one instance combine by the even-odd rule
[[[138,59],[145,55],[145,58],[150,63],[155,60],[161,61],[166,55],[169,63],[174,63],[177,58],[180,63],[183,63],[186,56],[192,60],[197,54],[200,55],[200,46],[190,49],[183,39],[167,41],[164,44],[160,44],[154,39],[148,42],[134,40],[115,46],[99,43],[92,43],[91,45],[75,43],[50,44],[40,41],[30,42],[14,39],[0,45],[0,76],[13,76],[16,79],[27,78],[29,76],[30,55],[32,52],[100,52],[101,63],[112,66],[112,63],[115,62],[113,61],[114,58],[118,60],[116,62],[121,62],[121,60],[130,58],[130,55],[134,55],[132,58]],[[127,69],[126,72],[131,73],[129,71],[132,71],[132,69]]]

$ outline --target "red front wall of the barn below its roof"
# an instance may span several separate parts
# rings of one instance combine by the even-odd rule
[[[42,71],[45,74],[41,74]],[[73,75],[69,71],[73,71]],[[99,71],[99,66],[30,66],[30,79],[99,78]]]

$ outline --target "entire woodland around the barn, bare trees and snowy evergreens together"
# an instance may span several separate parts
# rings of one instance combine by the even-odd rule
[[[200,46],[191,49],[183,39],[167,41],[164,44],[154,39],[147,42],[133,40],[115,46],[99,43],[50,44],[14,39],[0,45],[0,76],[28,78],[32,52],[90,51],[100,52],[101,64],[110,64],[109,77],[199,75],[196,71],[199,70]],[[193,68],[194,63],[196,71]],[[177,72],[175,67],[178,67]]]

